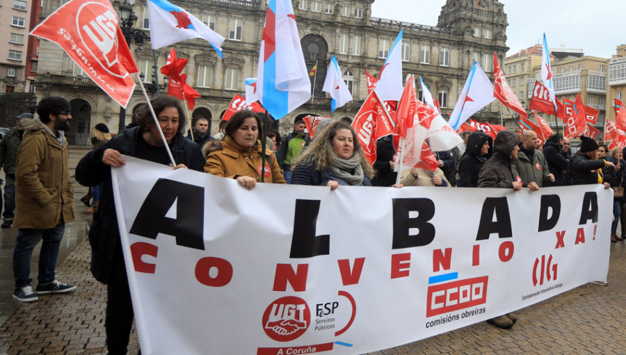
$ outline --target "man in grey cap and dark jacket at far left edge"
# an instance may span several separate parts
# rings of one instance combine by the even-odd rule
[[[24,137],[24,127],[19,122],[22,118],[33,119],[31,113],[22,113],[15,117],[16,127],[10,129],[0,142],[0,167],[4,168],[6,184],[4,185],[4,221],[1,228],[8,228],[13,224],[15,215],[15,162],[17,161],[17,149]]]

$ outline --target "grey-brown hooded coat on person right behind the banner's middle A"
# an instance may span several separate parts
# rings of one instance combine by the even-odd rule
[[[520,142],[520,135],[511,131],[501,131],[493,142],[493,156],[481,168],[479,188],[513,188],[513,182],[522,182],[511,158],[511,151]]]

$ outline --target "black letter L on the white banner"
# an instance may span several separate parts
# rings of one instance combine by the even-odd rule
[[[319,200],[296,199],[290,258],[312,258],[330,254],[330,235],[315,236],[318,214]]]

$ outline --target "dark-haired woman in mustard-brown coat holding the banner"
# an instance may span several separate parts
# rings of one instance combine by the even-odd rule
[[[261,120],[250,110],[235,113],[225,128],[223,140],[204,145],[202,152],[207,158],[204,172],[235,179],[239,185],[252,190],[261,181],[262,147],[259,136]],[[264,181],[287,183],[280,172],[278,161],[271,149],[265,150]]]

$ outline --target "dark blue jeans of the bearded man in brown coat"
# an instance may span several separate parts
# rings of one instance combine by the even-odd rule
[[[37,279],[41,284],[54,281],[56,257],[64,231],[65,223],[60,223],[51,229],[21,228],[17,230],[17,240],[15,240],[15,250],[13,251],[13,276],[16,288],[29,286],[33,281],[30,278],[31,257],[35,245],[38,245],[40,240],[43,242],[39,254],[39,276]]]

